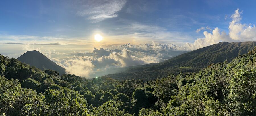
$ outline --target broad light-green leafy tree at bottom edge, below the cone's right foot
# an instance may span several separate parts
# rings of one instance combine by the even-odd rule
[[[44,103],[47,108],[44,115],[86,115],[87,103],[84,98],[75,91],[65,94],[63,90],[47,90],[44,93]]]

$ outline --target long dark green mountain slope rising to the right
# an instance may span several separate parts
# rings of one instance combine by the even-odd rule
[[[156,78],[166,77],[170,74],[179,74],[180,72],[197,72],[202,68],[218,62],[227,61],[229,63],[238,55],[248,53],[253,50],[256,42],[219,42],[194,51],[190,51],[161,63],[136,66],[129,68],[121,73],[109,74],[118,80],[142,79],[143,81],[154,80]]]

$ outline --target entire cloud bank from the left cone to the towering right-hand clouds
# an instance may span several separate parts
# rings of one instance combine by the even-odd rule
[[[124,44],[119,46],[109,46],[108,48],[93,48],[87,52],[59,53],[49,50],[44,54],[58,65],[66,69],[69,74],[75,74],[86,78],[95,78],[104,74],[113,73],[110,69],[118,69],[127,66],[143,65],[164,61],[171,56],[178,55],[178,51],[196,50],[220,41],[243,42],[256,40],[256,27],[252,24],[242,24],[241,13],[237,9],[231,15],[232,21],[229,23],[229,32],[220,31],[218,27],[211,30],[209,27],[201,27],[196,32],[203,32],[204,38],[197,38],[193,43],[184,45],[174,44]],[[212,31],[212,33],[207,32]],[[24,50],[28,51],[28,45],[24,45]],[[40,51],[40,48],[36,48]]]

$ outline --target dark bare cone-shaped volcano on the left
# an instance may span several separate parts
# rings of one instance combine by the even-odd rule
[[[55,70],[59,72],[60,75],[65,74],[65,68],[62,68],[61,66],[57,65],[50,59],[48,59],[46,56],[44,56],[39,51],[27,51],[20,57],[18,57],[18,60],[22,63],[29,64],[30,66],[35,66],[36,68],[39,68],[41,70]]]

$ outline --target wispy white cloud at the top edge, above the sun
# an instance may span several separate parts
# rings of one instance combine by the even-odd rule
[[[86,16],[92,22],[99,22],[107,18],[117,17],[117,12],[120,11],[125,5],[125,0],[93,0],[86,1],[82,10],[77,14]]]

